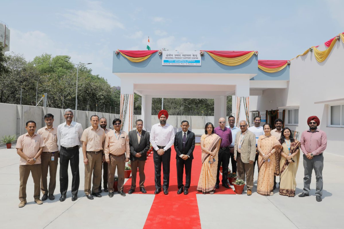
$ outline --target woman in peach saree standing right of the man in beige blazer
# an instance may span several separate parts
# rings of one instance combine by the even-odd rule
[[[279,175],[279,160],[282,146],[279,139],[271,135],[271,125],[264,124],[264,135],[258,138],[258,181],[257,193],[273,195],[273,175]]]

